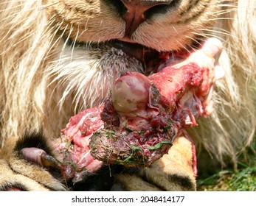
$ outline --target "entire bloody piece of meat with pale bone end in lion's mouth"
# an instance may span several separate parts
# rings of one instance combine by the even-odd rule
[[[61,131],[64,177],[77,182],[104,164],[150,166],[167,153],[184,129],[212,113],[212,88],[224,75],[221,48],[212,38],[179,63],[165,54],[155,74],[117,79],[102,107],[73,116]]]

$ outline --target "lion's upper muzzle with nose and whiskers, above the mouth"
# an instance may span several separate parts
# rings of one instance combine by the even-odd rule
[[[221,3],[48,0],[48,4],[49,18],[71,40],[100,43],[117,39],[170,51],[201,40]]]

